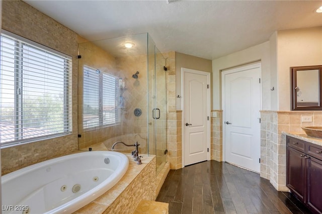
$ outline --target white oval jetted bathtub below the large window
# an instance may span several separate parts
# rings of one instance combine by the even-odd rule
[[[71,213],[112,188],[128,158],[93,151],[62,156],[2,176],[2,213]]]

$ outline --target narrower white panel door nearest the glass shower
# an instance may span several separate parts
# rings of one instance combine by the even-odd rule
[[[182,68],[184,165],[208,160],[209,73]]]

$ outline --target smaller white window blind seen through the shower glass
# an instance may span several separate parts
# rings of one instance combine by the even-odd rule
[[[119,122],[118,78],[84,66],[83,128],[112,126]]]

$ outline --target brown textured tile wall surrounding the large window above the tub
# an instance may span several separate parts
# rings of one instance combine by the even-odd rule
[[[22,1],[2,2],[2,28],[72,57],[71,135],[1,149],[3,174],[70,154],[77,144],[77,34]]]

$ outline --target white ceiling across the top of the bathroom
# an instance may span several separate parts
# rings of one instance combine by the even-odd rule
[[[263,43],[274,31],[322,26],[322,1],[25,1],[84,38],[149,33],[161,52],[206,59]]]

